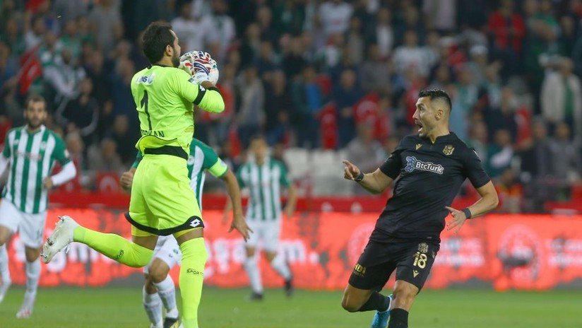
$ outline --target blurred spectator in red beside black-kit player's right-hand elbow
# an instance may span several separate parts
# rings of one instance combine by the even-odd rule
[[[503,170],[501,175],[495,180],[495,187],[499,195],[499,207],[497,211],[501,213],[520,213],[523,187],[519,183],[513,169],[506,168]]]

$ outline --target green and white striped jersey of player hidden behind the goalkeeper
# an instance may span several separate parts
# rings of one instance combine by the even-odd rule
[[[138,151],[133,168],[137,168],[142,155]],[[202,189],[206,180],[205,171],[210,172],[215,177],[222,177],[228,170],[228,166],[222,161],[213,148],[194,138],[190,144],[190,157],[188,158],[188,176],[190,177],[190,187],[196,194],[198,206],[202,211]]]

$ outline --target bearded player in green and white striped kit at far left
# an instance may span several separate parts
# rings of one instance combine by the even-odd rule
[[[24,127],[11,129],[6,134],[4,151],[0,156],[0,174],[8,166],[8,181],[0,204],[0,302],[11,284],[6,242],[18,231],[26,255],[26,292],[23,305],[16,313],[18,318],[30,317],[35,305],[40,279],[38,257],[47,218],[49,190],[76,175],[75,165],[69,160],[63,139],[43,125],[47,118],[44,98],[30,96],[26,101],[24,118]],[[63,169],[51,176],[56,162]]]

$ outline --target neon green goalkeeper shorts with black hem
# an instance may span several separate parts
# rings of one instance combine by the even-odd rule
[[[153,235],[203,228],[186,160],[172,155],[144,155],[133,175],[125,217],[135,228]]]

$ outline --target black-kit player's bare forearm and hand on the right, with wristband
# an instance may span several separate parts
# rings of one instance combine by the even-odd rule
[[[485,213],[494,210],[499,204],[499,198],[497,197],[497,191],[493,185],[493,182],[489,181],[484,186],[477,188],[477,192],[481,195],[481,198],[475,202],[475,204],[469,206],[461,211],[453,209],[452,207],[446,206],[451,212],[453,219],[446,223],[447,230],[456,228],[455,232],[461,230],[463,223],[468,218],[476,218],[477,216],[482,216]]]

